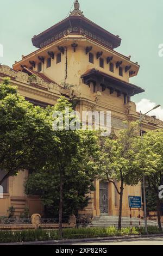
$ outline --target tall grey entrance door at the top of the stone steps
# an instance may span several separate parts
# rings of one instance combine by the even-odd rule
[[[108,182],[99,182],[99,208],[101,214],[108,214]]]

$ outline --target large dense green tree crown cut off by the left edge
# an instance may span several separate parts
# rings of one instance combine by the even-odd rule
[[[0,185],[20,170],[43,168],[48,150],[57,145],[54,136],[47,110],[18,95],[5,78],[0,84],[0,172],[5,171]]]

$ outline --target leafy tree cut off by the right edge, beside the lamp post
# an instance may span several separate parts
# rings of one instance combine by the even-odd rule
[[[156,210],[158,212],[158,224],[159,229],[161,227],[161,203],[162,199],[159,198],[159,187],[163,185],[163,131],[155,130],[149,131],[143,136],[143,150],[145,152],[151,152],[153,154],[153,162],[155,163],[153,168],[146,170],[146,179],[148,181],[148,189],[154,194],[156,198]],[[146,154],[148,158],[148,154]]]

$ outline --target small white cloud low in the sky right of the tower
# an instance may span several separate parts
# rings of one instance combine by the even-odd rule
[[[148,99],[142,99],[141,101],[136,103],[136,109],[137,109],[137,112],[141,111],[143,114],[145,114],[147,111],[149,111],[156,105],[158,105],[158,104],[156,104],[155,102],[152,102]],[[163,121],[163,108],[159,107],[159,108],[149,112],[148,115],[156,115],[156,118]]]

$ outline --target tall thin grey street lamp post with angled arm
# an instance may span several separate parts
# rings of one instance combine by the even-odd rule
[[[140,111],[140,118],[139,118],[139,121],[140,121],[140,132],[141,132],[141,139],[143,139],[143,136],[142,136],[142,119],[145,117],[145,115],[147,115],[149,112],[153,111],[154,109],[160,107],[161,105],[157,105],[155,106],[154,108],[152,108],[151,110],[149,110],[147,113],[145,114],[141,114],[141,111]],[[145,178],[145,174],[143,174],[143,198],[144,198],[144,216],[145,216],[145,230],[146,230],[146,233],[148,233],[148,228],[147,228],[147,204],[146,204],[146,178]]]

